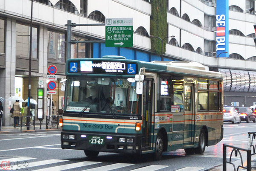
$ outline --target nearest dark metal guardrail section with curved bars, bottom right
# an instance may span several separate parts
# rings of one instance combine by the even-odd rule
[[[232,148],[230,158],[227,161],[227,148]],[[247,153],[247,166],[244,166],[242,155],[240,151],[245,151]],[[239,157],[241,159],[241,165],[237,166],[231,162],[232,154],[235,154],[235,157],[239,154]],[[234,171],[238,171],[239,168],[247,169],[247,171],[251,171],[251,149],[244,149],[239,147],[234,147],[231,145],[223,144],[223,171],[227,171],[227,163],[233,165]]]

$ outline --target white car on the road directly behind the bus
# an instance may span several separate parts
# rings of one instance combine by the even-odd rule
[[[235,107],[223,108],[223,122],[232,122],[232,124],[240,123],[240,115]]]

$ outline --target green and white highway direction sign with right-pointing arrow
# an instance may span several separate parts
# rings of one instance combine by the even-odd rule
[[[106,18],[106,47],[133,46],[133,18]]]

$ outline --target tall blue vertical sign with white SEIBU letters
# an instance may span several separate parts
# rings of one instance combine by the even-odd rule
[[[216,53],[219,57],[228,58],[228,0],[216,0]]]

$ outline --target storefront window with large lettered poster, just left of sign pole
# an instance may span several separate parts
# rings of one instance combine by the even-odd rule
[[[65,34],[48,31],[48,60],[65,62]]]

